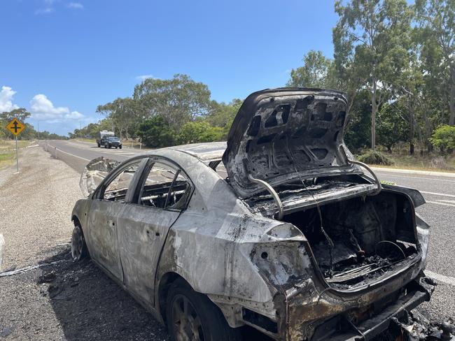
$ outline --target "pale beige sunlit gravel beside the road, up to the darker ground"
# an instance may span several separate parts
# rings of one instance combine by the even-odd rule
[[[71,210],[82,196],[79,178],[41,147],[24,150],[19,174],[13,167],[0,170],[3,270],[33,265],[55,245],[69,242]]]

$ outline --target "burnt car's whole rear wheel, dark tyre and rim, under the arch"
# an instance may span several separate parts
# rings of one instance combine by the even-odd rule
[[[221,310],[183,281],[174,282],[169,289],[166,320],[172,341],[240,340],[239,331],[228,325]]]

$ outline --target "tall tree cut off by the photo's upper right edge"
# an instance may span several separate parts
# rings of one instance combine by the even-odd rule
[[[426,71],[447,94],[449,125],[455,124],[455,1],[416,0],[417,20],[423,43],[422,60]]]

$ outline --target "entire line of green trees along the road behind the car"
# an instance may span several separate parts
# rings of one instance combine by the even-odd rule
[[[334,55],[309,51],[288,87],[325,87],[348,95],[346,143],[353,150],[406,143],[409,154],[455,144],[455,0],[336,1]],[[70,136],[100,129],[141,138],[151,147],[223,140],[241,101],[211,100],[188,75],[148,78],[132,96],[97,107],[103,119]]]

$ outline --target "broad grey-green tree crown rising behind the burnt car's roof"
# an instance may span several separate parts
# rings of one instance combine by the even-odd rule
[[[144,118],[160,116],[176,131],[196,117],[207,116],[211,108],[209,87],[180,74],[170,80],[144,80],[134,87],[133,99]]]

